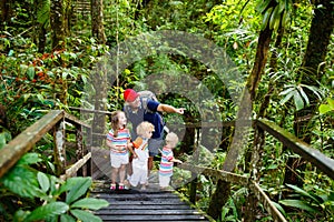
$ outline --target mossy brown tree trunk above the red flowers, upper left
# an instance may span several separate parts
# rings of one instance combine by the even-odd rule
[[[65,48],[65,14],[63,0],[50,1],[50,24],[52,32],[52,51]]]

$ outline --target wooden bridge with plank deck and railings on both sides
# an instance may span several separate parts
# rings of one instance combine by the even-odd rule
[[[334,160],[311,148],[303,141],[299,141],[268,120],[256,120],[253,124],[261,129],[261,131],[265,131],[275,137],[284,145],[291,148],[295,153],[310,161],[320,171],[327,174],[331,179],[334,179]],[[55,142],[53,157],[57,167],[56,175],[61,180],[79,175],[91,176],[91,152],[94,150],[91,147],[91,127],[65,111],[53,110],[0,150],[0,178],[18,162],[24,153],[29,152],[50,132],[53,134]],[[75,160],[70,162],[66,158],[66,151],[68,149],[66,141],[68,134],[75,135],[76,138],[76,155]],[[84,138],[86,138],[85,141]],[[102,157],[102,159],[104,158],[106,159],[106,157]],[[245,209],[246,214],[247,212],[252,214],[259,202],[272,216],[273,221],[286,221],[266,192],[262,190],[258,182],[253,178],[191,164],[180,164],[178,168],[190,171],[195,178],[203,174],[217,181],[216,192],[212,196],[213,203],[222,202],[222,195],[219,195],[219,193],[223,193],[220,192],[222,189],[225,191],[228,190],[228,186],[222,188],[222,184],[239,184],[247,188],[248,198],[253,201],[252,203],[255,203],[255,205],[247,205]],[[194,180],[190,185],[191,194],[189,200],[193,203],[180,198],[177,192],[159,191],[154,185],[147,191],[130,190],[110,193],[108,183],[108,181],[95,181],[94,189],[90,192],[90,196],[106,199],[110,203],[108,208],[95,212],[95,214],[100,216],[104,221],[214,221],[205,212],[194,208],[197,189],[196,180]],[[224,199],[226,199],[226,196]],[[222,210],[220,204],[216,206],[218,212]],[[213,214],[213,212],[210,214]]]

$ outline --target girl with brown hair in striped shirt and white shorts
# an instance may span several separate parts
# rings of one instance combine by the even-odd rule
[[[126,165],[129,163],[129,151],[136,157],[130,145],[130,132],[126,128],[127,118],[125,112],[111,113],[111,129],[107,134],[107,147],[110,149],[111,184],[110,190],[116,190],[116,180],[119,176],[118,189],[124,190]]]

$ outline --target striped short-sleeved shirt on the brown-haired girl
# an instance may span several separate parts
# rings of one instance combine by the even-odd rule
[[[130,132],[128,129],[118,130],[117,137],[114,135],[114,130],[109,130],[107,134],[107,140],[111,142],[112,148],[110,148],[110,152],[117,155],[125,155],[128,153],[127,144],[128,140],[130,140]]]

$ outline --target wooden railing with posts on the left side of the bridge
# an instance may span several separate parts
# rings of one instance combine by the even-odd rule
[[[71,125],[75,132],[69,130]],[[82,130],[86,133],[86,141],[84,141]],[[56,174],[61,179],[72,175],[90,175],[91,128],[65,111],[52,110],[0,150],[0,178],[49,132],[53,134]],[[68,165],[66,159],[66,135],[68,133],[76,134],[76,160],[73,165]]]

